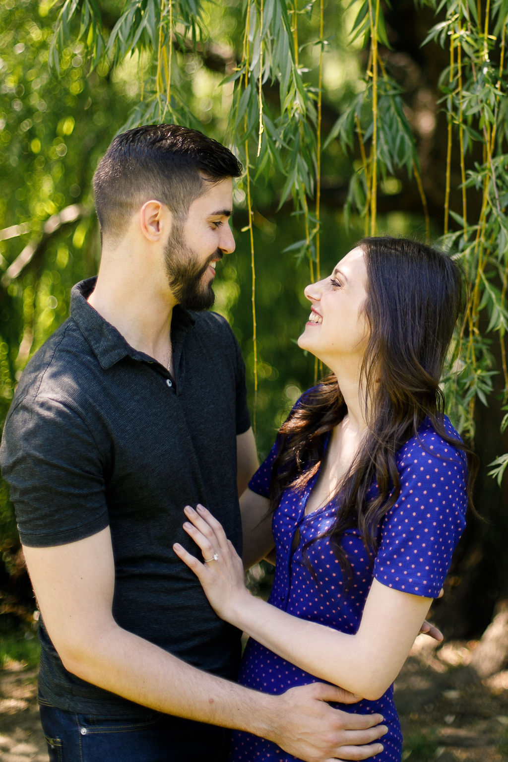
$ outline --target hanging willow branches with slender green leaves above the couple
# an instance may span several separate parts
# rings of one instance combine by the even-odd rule
[[[415,0],[416,2],[416,0]],[[449,48],[449,71],[442,82],[446,112],[446,176],[443,192],[443,245],[457,252],[468,274],[471,295],[465,323],[453,355],[465,370],[450,375],[455,421],[474,434],[477,402],[488,404],[494,394],[493,338],[500,341],[501,368],[506,386],[506,252],[508,252],[508,150],[506,148],[506,20],[508,0],[464,2],[421,0],[444,17],[429,31],[424,44]],[[339,4],[346,8],[346,3]],[[248,213],[252,268],[252,325],[254,344],[254,395],[257,395],[256,272],[254,267],[254,209],[257,178],[275,189],[280,207],[292,199],[302,234],[289,248],[297,261],[308,258],[312,280],[321,277],[321,168],[333,142],[343,155],[356,162],[350,173],[343,219],[365,226],[374,234],[380,226],[379,198],[385,178],[406,174],[421,200],[427,239],[431,223],[425,177],[417,155],[417,139],[404,110],[404,93],[385,67],[389,50],[385,17],[380,0],[357,0],[356,18],[349,30],[351,42],[369,50],[366,71],[350,102],[328,134],[323,130],[325,69],[324,0],[247,0],[228,6],[228,23],[236,18],[243,31],[241,55],[229,51],[216,56],[211,39],[223,40],[219,31],[222,9],[204,0],[126,0],[110,33],[103,29],[95,0],[66,0],[59,13],[55,42],[50,51],[54,66],[59,51],[76,34],[88,51],[92,66],[101,62],[119,66],[132,56],[139,60],[142,98],[124,128],[155,120],[174,120],[201,127],[196,114],[192,67],[195,57],[221,71],[221,83],[210,91],[228,88],[228,113],[219,107],[212,124],[221,127],[236,146],[245,165],[245,205]],[[236,14],[236,16],[235,16]],[[344,14],[345,19],[349,16]],[[342,18],[340,18],[342,21]],[[77,22],[77,26],[76,26]],[[344,22],[346,23],[346,22]],[[349,22],[347,22],[349,23]],[[215,25],[215,26],[214,26]],[[335,34],[335,29],[331,30]],[[215,35],[215,37],[214,37]],[[227,33],[229,37],[229,32]],[[302,44],[303,40],[303,44]],[[220,43],[225,45],[223,41]],[[308,53],[319,45],[319,59]],[[492,51],[495,50],[495,56]],[[496,60],[494,67],[490,57]],[[213,65],[211,64],[213,59]],[[230,92],[232,88],[232,98]],[[217,99],[218,101],[219,99]],[[226,98],[224,99],[226,101]],[[193,107],[194,106],[194,107]],[[482,158],[476,164],[471,149]],[[255,168],[250,157],[256,155]],[[356,168],[358,166],[358,168]],[[460,202],[454,208],[453,178],[460,177]],[[471,219],[476,198],[481,200],[478,219]],[[440,220],[439,220],[440,224]],[[480,330],[480,316],[487,328]],[[504,395],[508,395],[506,389]]]

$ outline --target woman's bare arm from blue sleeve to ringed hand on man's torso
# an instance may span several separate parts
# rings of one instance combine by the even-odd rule
[[[220,523],[206,508],[187,507],[184,528],[203,551],[200,563],[181,546],[177,555],[200,579],[212,607],[271,651],[322,680],[369,700],[378,699],[404,664],[430,607],[430,598],[388,588],[374,580],[356,635],[283,612],[244,586],[241,560]],[[192,523],[190,523],[192,522]],[[388,633],[388,636],[387,636]]]

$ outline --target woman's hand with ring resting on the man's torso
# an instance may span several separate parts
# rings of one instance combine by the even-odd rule
[[[236,607],[248,604],[251,597],[245,587],[241,558],[225,536],[222,524],[203,505],[197,505],[196,511],[187,505],[184,513],[188,519],[184,530],[203,553],[203,562],[178,543],[173,546],[174,552],[199,579],[213,610],[221,619],[232,622]]]

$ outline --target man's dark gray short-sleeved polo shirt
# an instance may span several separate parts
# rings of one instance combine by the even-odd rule
[[[200,502],[237,549],[236,440],[250,426],[244,363],[228,323],[176,307],[175,378],[130,347],[72,290],[71,316],[41,347],[5,423],[2,469],[21,541],[55,546],[109,526],[117,623],[198,668],[234,677],[238,632],[174,554],[183,508]],[[139,707],[69,674],[41,627],[40,696],[74,712]]]

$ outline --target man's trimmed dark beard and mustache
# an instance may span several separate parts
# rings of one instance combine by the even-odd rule
[[[217,250],[205,264],[197,261],[196,252],[184,242],[183,227],[175,224],[165,248],[165,266],[171,291],[185,309],[209,309],[215,302],[212,284],[201,282],[203,275],[216,259],[222,259]]]

